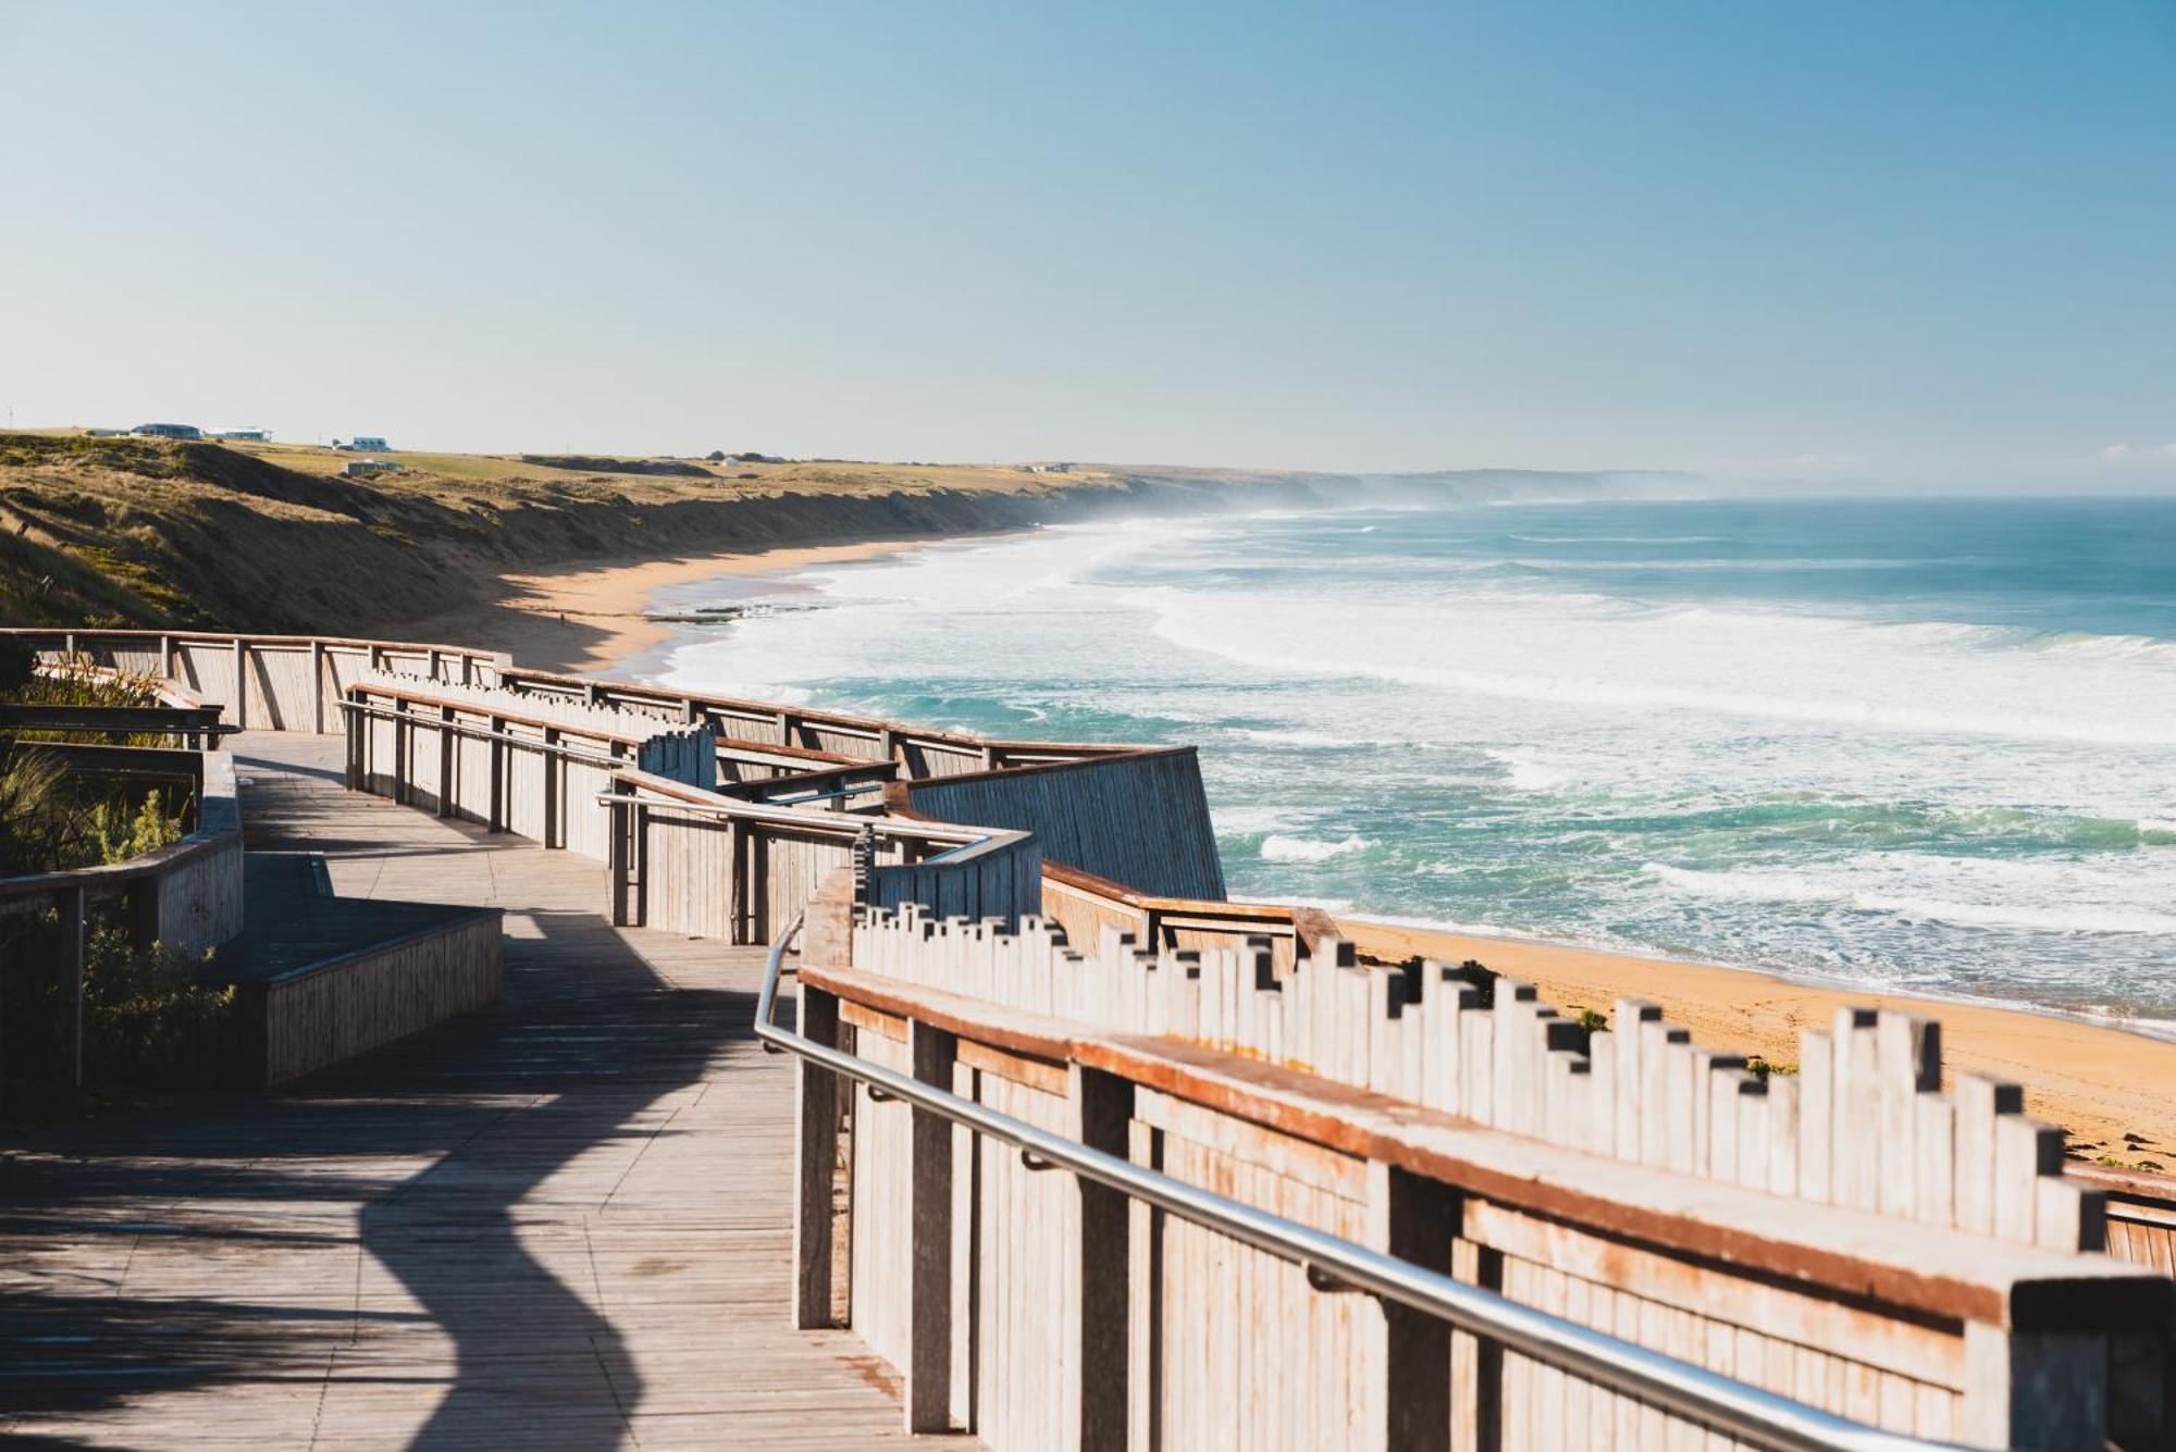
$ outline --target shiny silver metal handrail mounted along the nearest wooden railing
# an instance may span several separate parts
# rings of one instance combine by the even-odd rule
[[[1279,1261],[1290,1261],[1303,1267],[1308,1282],[1319,1289],[1356,1289],[1395,1300],[1521,1356],[1573,1372],[1719,1432],[1793,1450],[1906,1452],[1945,1445],[1847,1422],[1817,1406],[1717,1376],[1689,1361],[1619,1341],[1588,1326],[1506,1300],[1495,1291],[1451,1280],[1443,1272],[1399,1261],[1325,1230],[1142,1169],[1116,1154],[1092,1150],[1012,1115],[1001,1115],[975,1100],[964,1100],[897,1069],[779,1028],[770,1019],[786,972],[786,948],[801,932],[801,919],[803,913],[796,913],[770,943],[764,987],[755,1000],[755,1037],[772,1052],[799,1054],[823,1069],[868,1085],[873,1098],[905,1100],[916,1109],[1010,1143],[1021,1150],[1023,1163],[1029,1167],[1071,1169],[1132,1200],[1142,1200]]]

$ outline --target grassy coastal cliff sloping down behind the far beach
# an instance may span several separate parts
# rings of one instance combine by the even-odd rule
[[[1188,509],[1110,470],[392,454],[0,433],[0,624],[379,630],[505,569]]]

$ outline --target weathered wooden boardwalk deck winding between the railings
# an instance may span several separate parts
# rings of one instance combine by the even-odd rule
[[[235,739],[252,850],[496,904],[496,1006],[276,1096],[9,1132],[0,1435],[133,1448],[855,1448],[890,1367],[788,1326],[790,1063],[762,950],[601,915],[603,869]],[[947,1439],[962,1445],[962,1439]]]

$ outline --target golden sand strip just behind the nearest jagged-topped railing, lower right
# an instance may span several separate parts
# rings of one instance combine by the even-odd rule
[[[1771,974],[1669,959],[1636,959],[1556,943],[1467,937],[1427,928],[1338,919],[1362,952],[1421,954],[1525,978],[1560,1011],[1615,1017],[1617,998],[1649,998],[1693,1030],[1697,1043],[1797,1063],[1797,1030],[1828,1028],[1841,1004],[1878,1004],[1941,1019],[1941,1059],[1958,1069],[2013,1078],[2026,1109],[2069,1130],[2072,1150],[2139,1167],[2176,1169],[2176,1043],[2080,1019],[1976,1002],[1830,989]],[[2137,1135],[2148,1143],[2135,1143]]]

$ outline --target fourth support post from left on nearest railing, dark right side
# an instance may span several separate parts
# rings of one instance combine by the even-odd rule
[[[1438,1180],[1369,1163],[1369,1248],[1434,1272],[1451,1272],[1460,1200]],[[1382,1452],[1449,1452],[1451,1324],[1377,1300],[1369,1319],[1369,1426]]]

